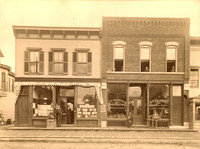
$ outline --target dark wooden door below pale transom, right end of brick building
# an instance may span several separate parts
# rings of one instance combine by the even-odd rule
[[[183,100],[182,97],[173,97],[172,109],[173,125],[183,125]]]

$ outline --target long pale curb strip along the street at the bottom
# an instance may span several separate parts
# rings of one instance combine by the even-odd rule
[[[0,138],[0,142],[200,144],[199,140],[136,138]]]

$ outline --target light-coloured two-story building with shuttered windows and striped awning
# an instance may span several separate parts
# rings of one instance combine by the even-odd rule
[[[100,28],[13,26],[17,126],[99,126]],[[53,109],[54,108],[54,109]]]

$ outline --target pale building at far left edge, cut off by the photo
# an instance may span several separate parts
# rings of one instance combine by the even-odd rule
[[[9,66],[1,64],[2,57],[4,55],[0,50],[0,114],[3,114],[6,122],[8,119],[15,120],[15,74]]]

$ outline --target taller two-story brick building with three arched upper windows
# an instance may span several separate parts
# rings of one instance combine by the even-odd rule
[[[102,26],[102,121],[107,126],[189,128],[188,18],[104,17]]]

